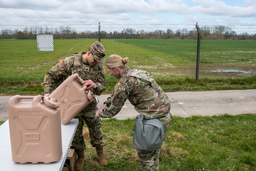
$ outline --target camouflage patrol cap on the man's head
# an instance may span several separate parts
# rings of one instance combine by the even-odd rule
[[[89,51],[91,51],[92,56],[98,63],[103,64],[103,58],[106,55],[106,51],[100,42],[93,43],[90,46]]]

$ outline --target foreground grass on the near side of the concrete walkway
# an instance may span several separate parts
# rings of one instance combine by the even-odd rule
[[[3,122],[0,122],[0,125]],[[101,167],[89,131],[83,130],[87,149],[84,171],[139,171],[133,148],[135,119],[103,119],[104,154]],[[114,129],[113,129],[114,128]],[[174,116],[160,151],[161,171],[255,171],[256,115]]]

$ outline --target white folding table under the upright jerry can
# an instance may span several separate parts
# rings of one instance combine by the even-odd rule
[[[0,170],[8,171],[61,171],[65,164],[71,142],[78,126],[78,119],[72,119],[67,125],[61,123],[61,136],[62,136],[62,156],[58,162],[45,163],[26,163],[20,164],[12,161],[12,151],[9,133],[9,120],[0,126]]]

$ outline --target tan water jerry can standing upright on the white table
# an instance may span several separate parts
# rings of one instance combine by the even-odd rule
[[[25,102],[23,99],[33,99]],[[46,96],[10,98],[8,117],[12,160],[17,163],[51,163],[62,156],[58,99]]]

